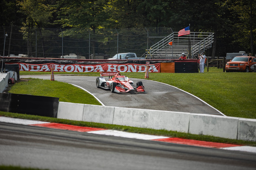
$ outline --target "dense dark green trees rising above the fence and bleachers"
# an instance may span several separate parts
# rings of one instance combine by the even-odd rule
[[[28,44],[33,28],[43,43],[44,28],[179,31],[190,24],[192,31],[215,33],[213,56],[240,50],[254,53],[256,47],[255,0],[1,0],[0,12],[2,27],[22,25]]]

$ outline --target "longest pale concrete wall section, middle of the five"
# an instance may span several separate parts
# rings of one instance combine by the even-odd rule
[[[113,124],[188,132],[189,113],[115,107]]]

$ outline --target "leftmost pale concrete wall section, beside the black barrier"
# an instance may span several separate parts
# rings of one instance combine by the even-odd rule
[[[84,104],[59,102],[57,118],[81,121],[83,112]]]

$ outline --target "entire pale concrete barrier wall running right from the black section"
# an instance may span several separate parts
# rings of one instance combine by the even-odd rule
[[[256,141],[256,120],[59,102],[57,118]]]

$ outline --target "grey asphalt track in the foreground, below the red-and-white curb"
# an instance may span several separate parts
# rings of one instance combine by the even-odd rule
[[[49,170],[255,170],[256,154],[0,123],[0,165]]]

